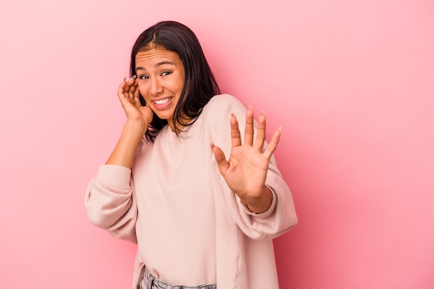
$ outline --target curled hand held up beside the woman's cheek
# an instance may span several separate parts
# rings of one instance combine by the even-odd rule
[[[153,120],[154,112],[149,107],[141,105],[136,76],[129,80],[122,80],[118,89],[118,97],[128,121],[139,121],[148,127]]]

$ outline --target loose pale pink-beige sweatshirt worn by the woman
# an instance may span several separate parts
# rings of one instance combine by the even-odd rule
[[[233,96],[211,98],[196,123],[177,138],[166,125],[155,143],[141,143],[132,169],[103,165],[89,182],[89,220],[116,238],[138,243],[132,288],[144,266],[183,286],[278,288],[272,238],[297,223],[293,199],[272,157],[268,211],[246,211],[220,175],[211,143],[229,157],[229,119],[240,131],[245,107]]]

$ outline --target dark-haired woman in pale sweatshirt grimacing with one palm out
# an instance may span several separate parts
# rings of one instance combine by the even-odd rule
[[[94,225],[138,244],[133,288],[278,288],[272,238],[297,223],[272,157],[280,130],[267,146],[265,114],[256,124],[252,107],[219,95],[196,35],[175,21],[138,37],[130,73],[118,91],[127,121],[85,204]]]

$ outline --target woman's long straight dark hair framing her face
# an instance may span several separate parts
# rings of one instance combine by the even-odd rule
[[[175,112],[173,123],[175,132],[179,135],[182,126],[192,125],[202,113],[209,100],[220,94],[217,81],[211,72],[199,40],[193,31],[176,21],[162,21],[146,29],[137,38],[131,51],[130,76],[136,73],[136,55],[140,51],[159,48],[173,51],[180,56],[184,64],[185,80]],[[141,105],[146,105],[140,95]],[[183,121],[184,120],[184,121]],[[192,120],[184,125],[185,120]],[[167,124],[165,119],[159,119],[154,114],[153,120],[146,130],[145,137],[154,141],[160,130]]]

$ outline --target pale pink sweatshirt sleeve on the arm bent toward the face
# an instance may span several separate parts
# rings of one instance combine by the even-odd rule
[[[87,186],[85,208],[92,224],[115,238],[137,243],[137,203],[129,168],[100,166]]]

